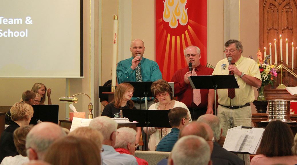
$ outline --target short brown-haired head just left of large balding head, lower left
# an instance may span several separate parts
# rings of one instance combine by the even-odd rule
[[[13,142],[15,143],[15,147],[17,151],[22,156],[27,156],[26,153],[26,136],[29,131],[32,129],[32,126],[23,126],[17,128],[13,132]]]

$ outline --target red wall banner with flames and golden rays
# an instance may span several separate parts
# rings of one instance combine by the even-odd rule
[[[184,49],[201,50],[206,65],[207,0],[156,0],[156,61],[163,79],[170,81],[176,70],[187,66]]]

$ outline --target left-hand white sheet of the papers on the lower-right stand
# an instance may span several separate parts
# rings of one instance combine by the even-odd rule
[[[246,135],[247,133],[241,130],[241,126],[228,129],[223,148],[238,152]]]

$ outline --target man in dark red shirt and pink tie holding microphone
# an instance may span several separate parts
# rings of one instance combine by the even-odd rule
[[[174,82],[174,96],[178,97],[178,101],[183,102],[188,107],[192,119],[197,120],[200,115],[206,113],[208,89],[192,89],[189,83],[189,76],[195,75],[211,75],[214,71],[211,68],[200,65],[200,49],[197,46],[188,46],[184,49],[184,56],[187,65],[192,63],[192,72],[189,66],[177,70],[171,82]]]

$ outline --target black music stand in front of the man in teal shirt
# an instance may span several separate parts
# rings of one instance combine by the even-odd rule
[[[145,103],[147,103],[147,97],[153,97],[151,93],[151,84],[153,81],[126,81],[125,83],[129,83],[134,87],[133,97],[144,97]]]

